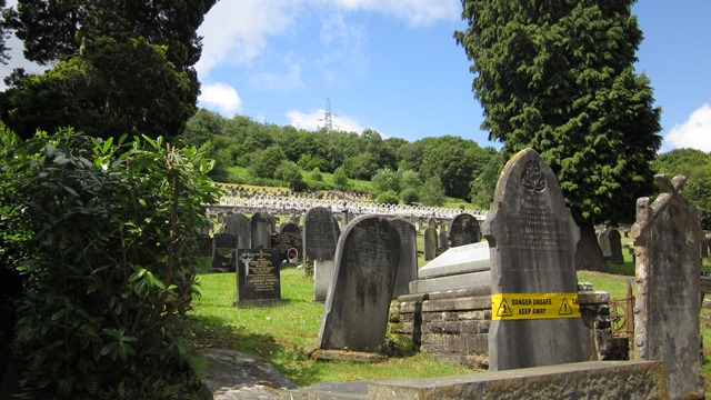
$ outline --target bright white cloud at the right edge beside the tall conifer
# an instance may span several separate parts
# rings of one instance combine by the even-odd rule
[[[691,113],[687,122],[674,126],[664,137],[672,149],[693,148],[711,151],[711,104],[703,104]]]

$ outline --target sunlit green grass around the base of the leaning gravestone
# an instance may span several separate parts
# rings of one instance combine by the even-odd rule
[[[202,296],[190,313],[190,341],[197,348],[213,347],[259,356],[300,387],[320,381],[410,379],[472,373],[475,370],[432,360],[395,346],[398,357],[380,363],[311,360],[304,348],[316,346],[323,303],[313,303],[313,281],[303,270],[281,271],[282,306],[236,308],[234,273],[201,273]],[[389,336],[390,338],[390,336]]]

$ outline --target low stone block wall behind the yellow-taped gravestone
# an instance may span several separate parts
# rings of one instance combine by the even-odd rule
[[[613,348],[610,294],[579,284],[580,311],[591,360],[620,358]],[[471,288],[405,294],[390,308],[390,332],[433,358],[474,368],[489,366],[490,289]],[[563,339],[564,340],[564,339]]]

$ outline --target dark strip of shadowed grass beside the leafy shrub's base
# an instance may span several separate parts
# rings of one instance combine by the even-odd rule
[[[217,317],[191,316],[189,320],[190,341],[197,348],[237,350],[258,356],[299,387],[320,381],[320,368],[303,349],[280,342],[269,333],[254,333],[244,327],[224,323]]]

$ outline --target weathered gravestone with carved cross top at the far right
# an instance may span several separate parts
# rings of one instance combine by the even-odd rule
[[[634,358],[664,361],[671,399],[702,398],[699,349],[700,212],[679,194],[687,178],[654,179],[660,194],[637,200]]]

